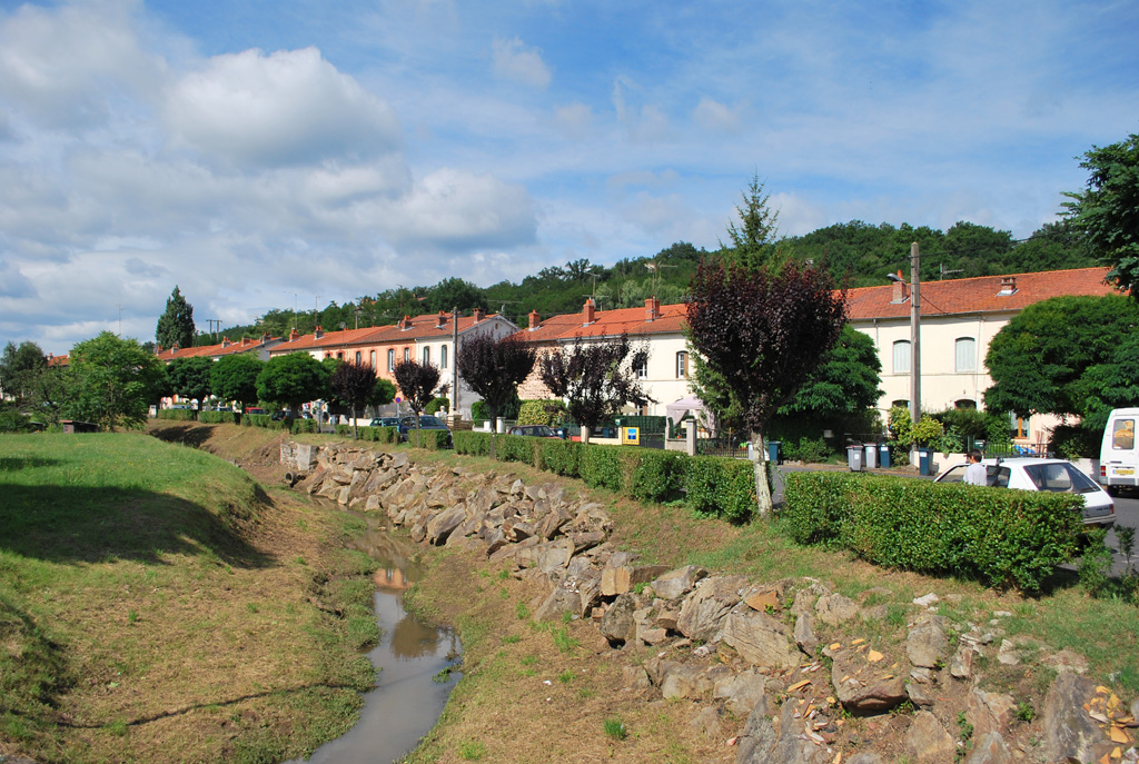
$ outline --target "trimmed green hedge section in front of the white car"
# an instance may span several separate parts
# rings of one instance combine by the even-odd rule
[[[876,565],[952,573],[1039,591],[1071,561],[1083,500],[912,478],[792,473],[779,512],[788,535]]]

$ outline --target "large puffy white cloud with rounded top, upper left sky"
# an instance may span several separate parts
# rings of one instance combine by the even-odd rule
[[[392,108],[314,48],[216,56],[169,91],[171,133],[239,165],[295,165],[396,151]]]

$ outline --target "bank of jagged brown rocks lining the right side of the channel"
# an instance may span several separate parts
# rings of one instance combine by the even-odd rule
[[[541,584],[535,619],[589,619],[605,639],[598,649],[607,642],[637,664],[624,667],[623,691],[697,704],[693,732],[735,742],[740,764],[1139,758],[1139,701],[1129,709],[1082,676],[1088,663],[1072,650],[1007,636],[1007,615],[982,625],[941,615],[954,594],[887,608],[885,589],[851,599],[822,581],[755,584],[646,565],[611,544],[600,504],[562,486],[418,466],[402,452],[286,443],[281,461],[301,476],[296,490],[382,514],[423,544],[478,550]],[[912,618],[899,633],[850,636],[898,607]],[[1030,660],[1059,672],[1035,722],[1031,698],[982,689],[978,669]]]

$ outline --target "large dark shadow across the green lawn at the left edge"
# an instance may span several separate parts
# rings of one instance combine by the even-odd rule
[[[212,554],[243,568],[273,564],[241,536],[239,508],[219,516],[174,496],[121,488],[0,483],[0,549],[22,557],[162,565],[163,553],[174,553]]]

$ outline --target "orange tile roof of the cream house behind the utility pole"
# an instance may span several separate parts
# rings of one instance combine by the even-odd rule
[[[1081,268],[1070,271],[923,281],[921,315],[1018,312],[1049,297],[1118,294],[1117,289],[1104,280],[1106,276],[1106,268]],[[1011,294],[1001,294],[1002,281],[1009,279],[1014,281],[1015,289]],[[846,297],[847,318],[852,321],[908,319],[910,315],[908,285],[904,293],[906,301],[895,303],[894,285],[851,289]]]

